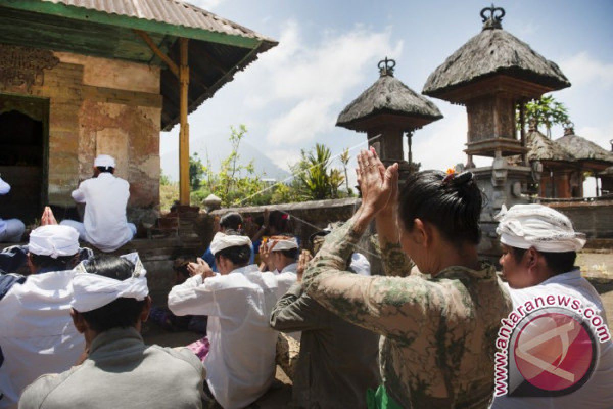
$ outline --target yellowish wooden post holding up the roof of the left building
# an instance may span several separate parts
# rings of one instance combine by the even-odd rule
[[[179,202],[189,205],[189,123],[188,123],[188,39],[180,38],[181,61],[179,66],[180,96],[180,131],[179,131]]]

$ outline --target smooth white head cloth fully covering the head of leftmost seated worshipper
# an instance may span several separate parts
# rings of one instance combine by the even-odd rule
[[[50,224],[32,230],[28,251],[39,256],[73,256],[78,253],[78,232],[70,226]]]

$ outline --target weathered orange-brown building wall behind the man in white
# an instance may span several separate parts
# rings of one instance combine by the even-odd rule
[[[55,52],[59,64],[34,85],[2,92],[48,98],[48,201],[72,206],[70,191],[91,177],[93,159],[115,156],[131,184],[130,205],[159,205],[159,67]]]

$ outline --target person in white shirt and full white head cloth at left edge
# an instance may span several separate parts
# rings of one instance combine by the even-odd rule
[[[25,257],[29,275],[0,274],[2,409],[17,407],[21,391],[40,375],[69,369],[85,348],[70,320],[77,231],[38,227]]]

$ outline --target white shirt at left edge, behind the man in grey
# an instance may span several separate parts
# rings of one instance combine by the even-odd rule
[[[70,318],[74,270],[29,275],[0,300],[0,408],[17,407],[23,389],[77,362],[85,338]]]

